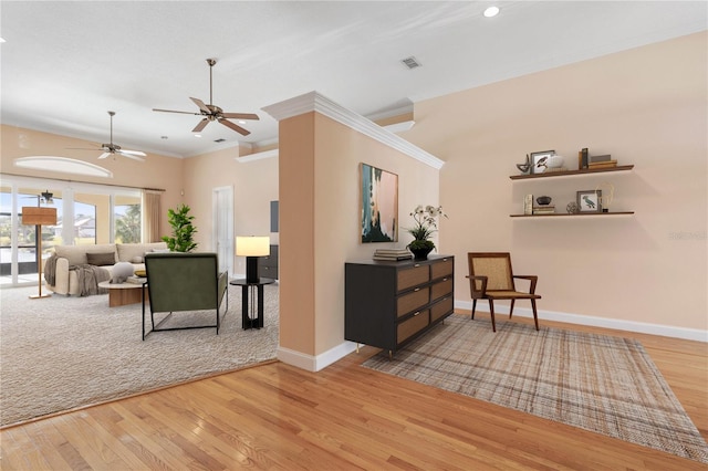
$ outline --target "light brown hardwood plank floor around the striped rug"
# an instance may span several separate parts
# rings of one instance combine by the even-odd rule
[[[708,438],[708,345],[542,325],[638,338]],[[319,373],[274,362],[7,428],[1,469],[707,469],[358,366],[376,352]]]

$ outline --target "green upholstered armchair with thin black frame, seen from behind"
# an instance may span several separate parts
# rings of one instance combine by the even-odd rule
[[[185,328],[216,327],[217,335],[221,325],[219,310],[228,287],[228,273],[219,273],[217,254],[205,253],[147,253],[145,255],[147,287],[149,291],[150,332],[177,331]],[[185,311],[216,311],[216,323],[208,325],[188,325],[160,327],[173,313]],[[226,310],[229,310],[229,296],[226,296]],[[155,325],[156,313],[168,313]],[[143,296],[143,339],[145,332],[145,296]]]

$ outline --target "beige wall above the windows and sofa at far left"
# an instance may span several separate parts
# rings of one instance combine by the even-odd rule
[[[92,148],[96,146],[96,143],[8,125],[0,125],[0,129],[2,154],[0,156],[0,171],[3,174],[131,188],[159,188],[165,190],[162,195],[162,207],[165,213],[167,208],[176,207],[181,202],[183,163],[180,159],[148,154],[144,163],[124,157],[98,160],[100,148],[95,151],[70,149],[70,147]],[[15,158],[30,156],[56,156],[83,160],[111,170],[113,178],[77,176],[51,171],[51,169],[33,170],[14,166]],[[62,188],[50,188],[50,191]],[[170,232],[171,229],[167,216],[165,216],[160,221],[160,233],[166,236]]]

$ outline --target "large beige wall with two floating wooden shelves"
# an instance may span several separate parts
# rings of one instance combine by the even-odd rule
[[[511,251],[517,273],[540,276],[540,310],[707,328],[707,44],[694,34],[416,104],[402,136],[446,161],[441,245],[458,258],[458,301],[468,251]],[[577,168],[583,147],[634,171],[509,179],[537,150]],[[605,181],[612,209],[633,217],[509,217],[525,193],[564,211]]]

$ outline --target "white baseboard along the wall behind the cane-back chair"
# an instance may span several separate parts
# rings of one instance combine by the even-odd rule
[[[455,308],[472,311],[471,301],[455,301]],[[477,311],[489,312],[489,303],[487,301],[480,301],[477,303]],[[637,332],[641,334],[662,335],[665,337],[683,338],[686,341],[697,341],[708,343],[708,331],[701,331],[698,328],[685,328],[674,327],[670,325],[649,324],[645,322],[625,321],[607,317],[595,317],[584,314],[570,314],[554,311],[539,310],[539,322],[543,320],[564,322],[566,324],[590,325],[593,327],[614,328],[617,331]],[[496,314],[509,314],[509,306],[499,305],[494,306]],[[533,318],[533,311],[531,307],[516,306],[513,310],[514,316]]]

